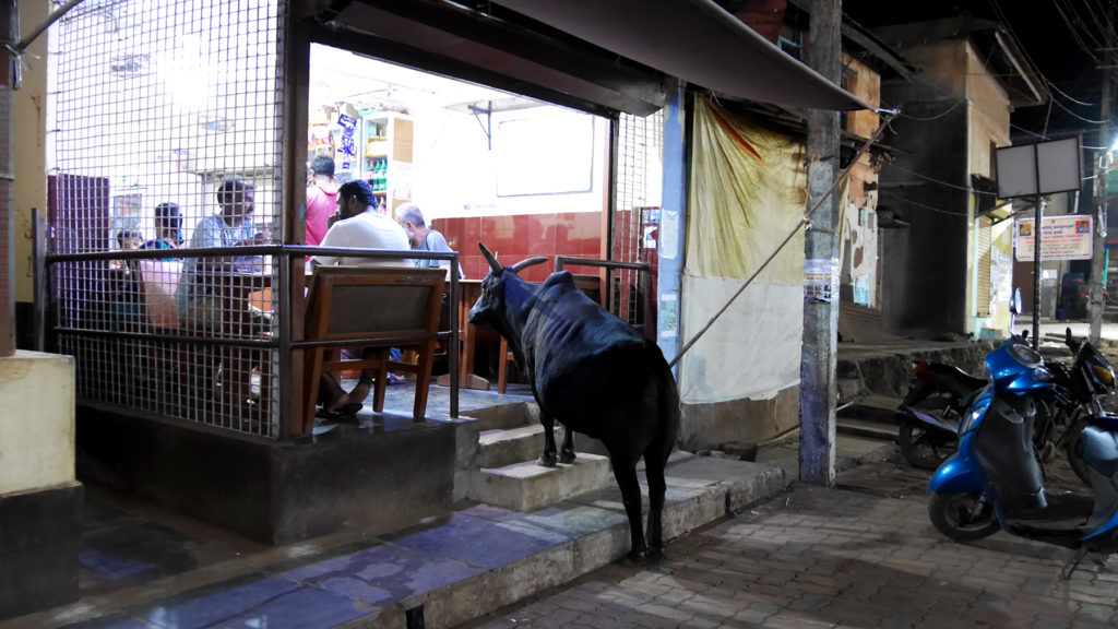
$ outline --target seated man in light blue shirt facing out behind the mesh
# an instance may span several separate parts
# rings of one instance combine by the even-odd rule
[[[239,177],[222,181],[217,189],[217,204],[221,212],[199,220],[187,246],[210,248],[267,244],[267,234],[255,233],[253,224],[247,222],[255,209],[254,190],[252,184]],[[184,259],[176,290],[179,320],[187,326],[220,329],[225,320],[222,295],[218,287],[205,280],[205,275],[236,271],[244,263],[245,260],[236,255]],[[248,320],[254,331],[267,329],[268,317],[265,313],[254,310]]]

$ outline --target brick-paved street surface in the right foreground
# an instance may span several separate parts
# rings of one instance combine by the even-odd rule
[[[897,467],[877,466],[887,476]],[[1089,557],[1063,581],[1071,551],[1005,533],[951,542],[928,522],[920,491],[799,487],[682,536],[667,553],[657,566],[613,564],[471,627],[1118,625],[1118,558]]]

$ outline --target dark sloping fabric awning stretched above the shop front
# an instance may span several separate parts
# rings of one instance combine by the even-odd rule
[[[874,109],[711,0],[493,1],[729,96],[812,109]]]

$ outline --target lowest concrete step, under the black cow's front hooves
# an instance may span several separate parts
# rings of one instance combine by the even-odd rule
[[[530,461],[468,472],[467,496],[514,511],[534,511],[552,503],[613,482],[609,459],[578,452],[571,464],[544,468]]]

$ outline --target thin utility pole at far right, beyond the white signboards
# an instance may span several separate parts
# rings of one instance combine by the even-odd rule
[[[1109,13],[1109,9],[1108,9]],[[1103,22],[1109,25],[1108,19]],[[1110,29],[1107,28],[1107,54],[1111,50]],[[1099,150],[1095,160],[1095,232],[1091,234],[1093,244],[1091,252],[1091,284],[1087,293],[1087,312],[1091,320],[1089,339],[1091,345],[1098,347],[1099,337],[1102,336],[1102,311],[1106,309],[1102,293],[1106,287],[1102,284],[1102,276],[1106,274],[1107,256],[1107,173],[1110,171],[1110,90],[1114,86],[1112,64],[1107,64],[1102,68],[1102,100],[1099,105],[1099,113],[1102,125],[1099,128]]]

